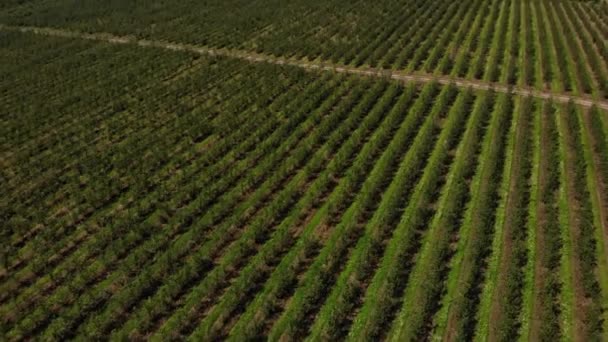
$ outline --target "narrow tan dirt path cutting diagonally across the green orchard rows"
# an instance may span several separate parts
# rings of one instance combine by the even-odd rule
[[[275,57],[272,55],[260,54],[250,51],[236,50],[236,49],[213,49],[203,46],[196,46],[191,44],[182,44],[182,43],[173,43],[166,42],[161,40],[148,40],[148,39],[137,39],[133,36],[116,36],[109,33],[83,33],[78,31],[64,30],[64,29],[54,29],[47,27],[30,27],[30,26],[6,26],[0,25],[0,30],[3,31],[16,31],[23,33],[34,33],[45,36],[54,36],[54,37],[66,37],[66,38],[79,38],[79,39],[87,39],[87,40],[95,40],[95,41],[103,41],[112,44],[130,44],[130,45],[138,45],[145,47],[155,47],[159,49],[165,50],[173,50],[173,51],[186,51],[198,53],[201,55],[209,55],[209,56],[223,56],[223,57],[232,57],[238,58],[250,62],[255,63],[272,63],[278,65],[290,65],[295,67],[300,67],[309,70],[326,70],[333,71],[338,73],[346,73],[346,74],[354,74],[354,75],[364,75],[370,77],[381,77],[381,78],[390,78],[398,81],[406,81],[406,82],[418,82],[418,83],[428,83],[428,82],[438,82],[440,84],[454,84],[458,87],[462,88],[473,88],[479,90],[494,90],[501,93],[509,93],[512,92],[517,95],[523,96],[533,96],[541,99],[553,99],[557,102],[566,103],[569,101],[574,101],[574,103],[591,107],[592,105],[597,105],[600,108],[608,110],[608,101],[597,101],[589,96],[575,96],[572,94],[561,94],[550,91],[540,91],[531,88],[525,87],[515,87],[515,86],[506,86],[497,83],[484,82],[481,80],[466,80],[463,78],[455,78],[451,76],[437,76],[430,74],[421,74],[421,73],[407,73],[403,71],[390,70],[390,69],[377,69],[377,68],[357,68],[350,66],[342,66],[332,62],[324,62],[324,61],[306,61],[304,59],[294,59],[294,58],[282,58]]]

